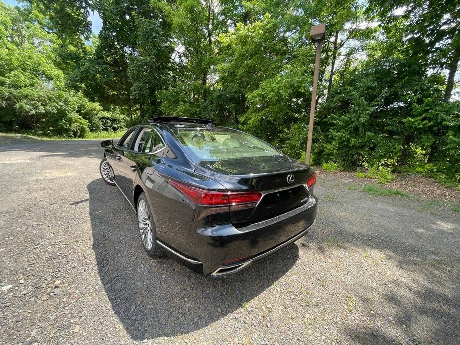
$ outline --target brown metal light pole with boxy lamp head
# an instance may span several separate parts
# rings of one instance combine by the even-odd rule
[[[313,122],[315,120],[316,108],[316,89],[318,88],[319,58],[321,57],[321,46],[323,44],[324,37],[326,37],[325,24],[319,24],[311,27],[310,40],[313,43],[316,42],[316,60],[315,73],[313,75],[313,89],[311,90],[310,123],[308,125],[307,152],[305,155],[306,164],[310,164],[311,141],[313,137]]]

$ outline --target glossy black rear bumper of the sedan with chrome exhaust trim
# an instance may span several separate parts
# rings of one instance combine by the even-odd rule
[[[221,224],[197,229],[193,243],[203,274],[223,276],[236,273],[265,259],[306,235],[316,219],[317,199],[277,217],[236,228]],[[197,237],[197,238],[196,238]]]

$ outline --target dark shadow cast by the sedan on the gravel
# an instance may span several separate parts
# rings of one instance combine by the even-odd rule
[[[237,274],[211,278],[167,255],[144,252],[137,218],[116,187],[87,186],[93,250],[115,315],[134,340],[186,334],[225,317],[264,293],[299,258],[293,244]]]

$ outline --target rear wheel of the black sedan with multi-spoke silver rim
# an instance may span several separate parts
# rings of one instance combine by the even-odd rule
[[[139,236],[144,250],[151,257],[161,257],[164,251],[156,242],[157,232],[155,222],[144,192],[139,195],[139,199],[137,200],[137,221],[139,224]]]

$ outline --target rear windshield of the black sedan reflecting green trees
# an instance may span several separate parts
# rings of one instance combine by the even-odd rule
[[[242,132],[205,128],[173,131],[182,145],[201,160],[282,155],[269,144]]]

